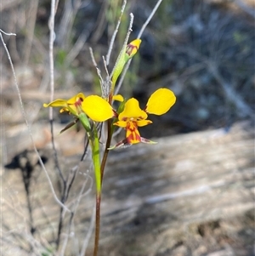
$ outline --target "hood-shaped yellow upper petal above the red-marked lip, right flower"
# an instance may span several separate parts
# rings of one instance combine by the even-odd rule
[[[127,100],[124,110],[119,115],[119,120],[126,121],[127,118],[146,119],[147,117],[148,115],[140,109],[138,100],[131,98]]]

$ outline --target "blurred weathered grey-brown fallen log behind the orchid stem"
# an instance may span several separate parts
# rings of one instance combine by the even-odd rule
[[[253,138],[251,126],[239,123],[229,131],[180,134],[155,139],[157,145],[111,151],[103,185],[99,255],[251,255],[255,231]],[[57,143],[61,148],[63,141]],[[44,149],[42,155],[48,151]],[[47,157],[46,167],[57,190],[58,176]],[[77,161],[77,156],[60,159],[66,173]],[[66,202],[70,208],[74,205],[87,180],[88,193],[81,198],[71,229],[65,228],[61,236],[63,240],[70,236],[65,255],[77,255],[82,247],[78,239],[88,234],[94,188],[93,173],[87,169],[86,163],[79,165]],[[3,177],[5,231],[9,236],[9,230],[17,230],[14,223],[20,218],[21,230],[28,232],[21,176],[5,172]],[[15,207],[7,203],[10,195]],[[34,237],[53,241],[59,205],[42,171],[37,170],[31,181],[31,205],[37,230]],[[15,208],[20,217],[14,214]],[[66,213],[66,226],[68,216]],[[86,255],[92,255],[93,240],[91,237]]]

